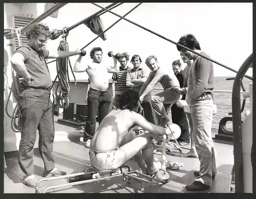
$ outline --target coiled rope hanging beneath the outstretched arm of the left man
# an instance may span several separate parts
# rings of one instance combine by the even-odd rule
[[[59,43],[58,51],[66,51],[69,52],[69,44],[67,42],[67,30],[66,27],[63,28],[63,36],[62,40]],[[73,74],[75,84],[73,87],[71,87],[71,82],[69,78],[69,67],[71,69],[71,72]],[[58,78],[57,87],[55,90],[55,95],[57,97],[57,105],[60,108],[68,108],[69,107],[69,93],[70,91],[76,86],[76,78],[74,71],[71,66],[70,58],[64,58],[64,59],[57,59],[56,61],[56,69],[57,69],[57,76],[53,81],[53,85]],[[53,87],[53,86],[52,86]],[[59,94],[58,94],[59,92]],[[65,103],[63,103],[63,100],[65,100]]]

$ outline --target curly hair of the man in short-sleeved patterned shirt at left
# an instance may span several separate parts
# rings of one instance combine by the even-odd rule
[[[28,31],[26,32],[27,39],[30,39],[31,35],[34,37],[38,37],[39,35],[45,35],[47,38],[52,37],[49,27],[42,23],[33,24],[29,27]]]

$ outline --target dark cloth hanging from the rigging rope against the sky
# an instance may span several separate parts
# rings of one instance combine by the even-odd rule
[[[96,35],[101,34],[105,30],[100,16],[95,16],[83,24],[90,28],[90,30]],[[106,34],[101,34],[100,38],[103,41],[106,40]]]

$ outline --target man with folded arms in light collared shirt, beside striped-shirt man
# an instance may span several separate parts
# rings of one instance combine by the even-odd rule
[[[140,91],[141,86],[146,81],[148,77],[148,69],[145,69],[141,66],[141,58],[139,55],[134,55],[131,59],[134,68],[129,71],[126,75],[126,86],[131,87],[136,91]],[[148,122],[155,124],[154,116],[153,116],[153,108],[151,104],[151,93],[148,93],[143,101],[141,102],[141,106],[144,109],[144,117]]]

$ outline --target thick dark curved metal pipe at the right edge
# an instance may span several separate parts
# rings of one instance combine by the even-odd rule
[[[242,132],[241,132],[241,82],[250,65],[252,64],[253,54],[251,54],[240,67],[233,83],[232,90],[232,117],[233,117],[233,146],[234,146],[234,175],[236,193],[244,192],[243,178],[243,148],[242,148]]]

